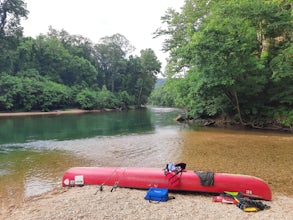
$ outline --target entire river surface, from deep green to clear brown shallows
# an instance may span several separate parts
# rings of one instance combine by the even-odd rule
[[[293,195],[293,135],[199,128],[180,109],[0,118],[0,202],[15,204],[60,187],[73,166],[164,167],[240,173]]]

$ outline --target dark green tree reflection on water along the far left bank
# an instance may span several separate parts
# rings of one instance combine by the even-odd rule
[[[153,130],[148,111],[0,118],[0,144],[71,140]]]

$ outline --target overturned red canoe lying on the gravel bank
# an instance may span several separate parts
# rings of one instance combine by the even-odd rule
[[[272,200],[272,193],[262,179],[248,175],[213,173],[210,185],[200,178],[200,173],[186,170],[170,179],[160,168],[139,167],[74,167],[67,170],[62,179],[62,186],[108,185],[149,189],[151,187],[170,190],[223,193],[241,192],[245,196]],[[205,176],[205,175],[203,175]],[[206,175],[209,176],[209,175]],[[172,181],[177,184],[172,184]]]

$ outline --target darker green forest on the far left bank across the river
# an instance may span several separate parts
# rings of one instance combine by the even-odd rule
[[[161,63],[150,48],[135,47],[121,34],[93,43],[49,27],[24,37],[25,1],[0,0],[0,111],[66,108],[140,108],[156,83]]]

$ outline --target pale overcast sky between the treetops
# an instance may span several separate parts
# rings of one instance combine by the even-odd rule
[[[22,21],[24,35],[46,34],[49,26],[64,29],[98,43],[102,37],[122,34],[140,50],[151,48],[164,68],[168,54],[162,52],[163,37],[153,33],[163,24],[168,8],[180,11],[184,0],[25,0],[28,19]]]

